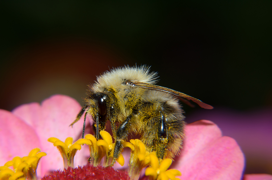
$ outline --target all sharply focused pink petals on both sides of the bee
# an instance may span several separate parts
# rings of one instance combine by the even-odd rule
[[[40,160],[38,176],[62,169],[63,160],[57,148],[47,139],[79,139],[83,120],[74,124],[73,128],[69,127],[79,111],[79,104],[64,95],[54,95],[41,105],[24,104],[12,112],[0,110],[0,165],[14,156],[25,156],[31,149],[40,147],[47,156]],[[196,121],[186,125],[185,135],[183,149],[170,166],[181,172],[181,179],[242,178],[243,153],[234,139],[222,136],[217,125],[207,120]],[[76,154],[76,165],[86,164],[90,155],[88,148],[85,145]],[[124,158],[126,160],[127,157],[124,155]],[[245,175],[244,178],[257,180],[262,176]],[[270,175],[265,176],[272,179]]]

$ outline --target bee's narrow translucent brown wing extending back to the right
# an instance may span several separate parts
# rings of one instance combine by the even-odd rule
[[[138,87],[138,88],[144,88],[144,89],[150,89],[150,90],[154,90],[154,91],[162,91],[162,92],[170,93],[170,94],[178,96],[178,98],[180,98],[181,101],[183,101],[184,103],[191,105],[191,106],[192,106],[192,104],[188,100],[194,101],[201,108],[205,108],[205,109],[212,109],[213,108],[211,105],[205,104],[204,102],[200,101],[199,99],[193,98],[193,97],[186,95],[182,92],[174,91],[173,89],[165,88],[162,86],[148,84],[145,82],[138,82],[138,81],[131,81],[131,83],[129,83],[128,85],[131,85],[133,87]]]

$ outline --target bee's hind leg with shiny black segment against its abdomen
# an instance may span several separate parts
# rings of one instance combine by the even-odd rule
[[[160,112],[160,119],[157,127],[157,145],[156,154],[158,158],[163,159],[166,153],[167,143],[168,143],[168,132],[167,132],[166,119],[163,113]]]

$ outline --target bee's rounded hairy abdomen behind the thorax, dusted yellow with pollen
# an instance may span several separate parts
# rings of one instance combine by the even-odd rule
[[[155,92],[142,103],[139,124],[142,141],[149,151],[156,151],[159,158],[173,158],[183,140],[183,110],[174,97]]]

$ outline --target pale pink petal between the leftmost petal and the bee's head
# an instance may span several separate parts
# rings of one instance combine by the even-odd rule
[[[64,141],[67,137],[73,137],[74,140],[81,138],[83,117],[74,124],[73,128],[69,127],[76,119],[80,109],[81,106],[73,98],[65,95],[54,95],[45,99],[41,105],[37,103],[23,104],[12,111],[13,114],[34,127],[41,142],[40,148],[47,153],[47,156],[41,160],[41,175],[48,171],[63,169],[60,153],[47,139],[57,137]],[[89,120],[86,123],[88,124]],[[88,147],[83,146],[83,149],[76,154],[75,166],[86,164],[88,157],[83,155],[87,152],[86,149]]]

